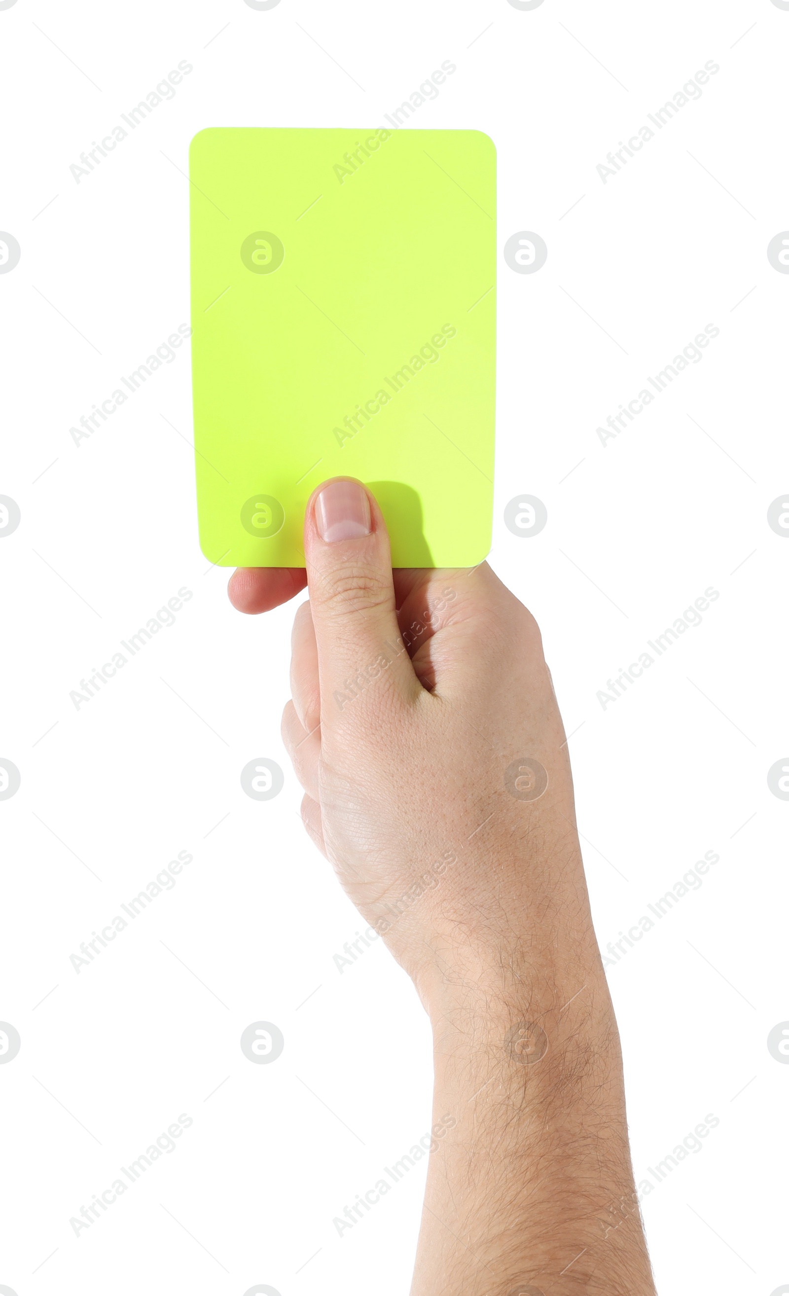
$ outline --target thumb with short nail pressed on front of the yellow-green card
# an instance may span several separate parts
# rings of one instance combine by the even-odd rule
[[[376,498],[351,477],[324,482],[304,518],[310,607],[317,642],[321,719],[386,677],[421,691],[398,626],[389,534]],[[332,701],[333,700],[333,701]],[[355,709],[354,709],[355,710]]]

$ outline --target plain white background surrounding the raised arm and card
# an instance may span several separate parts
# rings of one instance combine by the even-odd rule
[[[17,0],[0,12],[0,1284],[281,1296],[408,1291],[424,1163],[351,1231],[332,1221],[430,1125],[428,1023],[297,818],[279,723],[293,607],[244,618],[197,546],[189,349],[88,441],[69,429],[189,319],[187,152],[206,126],[383,124],[443,60],[413,127],[487,131],[499,248],[491,562],[538,617],[574,765],[601,945],[705,851],[703,886],[609,968],[637,1181],[719,1125],[643,1209],[665,1292],[770,1296],[785,1247],[789,804],[789,12],[771,0],[507,0],[255,12]],[[329,57],[330,56],[330,57]],[[175,97],[79,184],[80,152],[176,67]],[[597,165],[703,67],[719,73],[621,172]],[[473,255],[473,249],[469,249]],[[614,441],[596,428],[706,324],[719,337]],[[516,491],[548,525],[503,525]],[[719,599],[622,697],[606,679],[709,586]],[[180,587],[192,599],[79,710],[70,691]],[[255,757],[285,769],[246,797]],[[177,885],[79,973],[82,941],[179,850]],[[238,1039],[276,1023],[255,1067]],[[218,1087],[219,1086],[219,1087]],[[69,1225],[180,1113],[193,1124],[89,1229]],[[781,1240],[781,1230],[784,1238]]]

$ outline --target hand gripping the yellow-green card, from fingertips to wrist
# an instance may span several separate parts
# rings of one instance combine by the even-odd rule
[[[534,938],[535,914],[553,941],[540,901],[562,886],[588,923],[565,734],[530,613],[487,562],[393,573],[378,505],[351,480],[312,496],[304,552],[306,573],[238,572],[231,597],[268,608],[308,577],[282,735],[304,826],[369,925],[429,995],[437,960],[453,967],[463,950],[459,975],[477,980],[503,942],[514,954]]]

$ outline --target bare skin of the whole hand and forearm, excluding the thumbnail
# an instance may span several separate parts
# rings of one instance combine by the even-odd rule
[[[433,1025],[412,1296],[653,1296],[539,629],[486,562],[393,572],[369,492],[371,534],[324,542],[323,489],[307,570],[240,569],[229,596],[308,582],[282,715],[302,819]]]

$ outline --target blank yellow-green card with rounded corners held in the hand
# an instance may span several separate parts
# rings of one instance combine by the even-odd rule
[[[303,566],[311,491],[358,477],[395,566],[473,566],[492,521],[496,150],[479,131],[192,140],[200,542]]]

